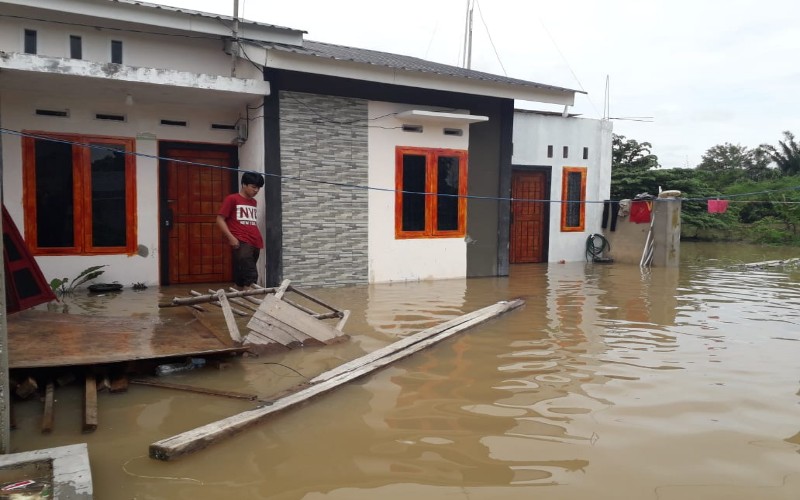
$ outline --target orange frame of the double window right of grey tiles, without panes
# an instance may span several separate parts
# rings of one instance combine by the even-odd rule
[[[425,157],[425,229],[403,230],[403,157]],[[439,230],[437,173],[441,157],[458,159],[458,223],[457,229]],[[467,234],[467,152],[460,149],[433,149],[398,146],[395,149],[395,238],[463,238]]]

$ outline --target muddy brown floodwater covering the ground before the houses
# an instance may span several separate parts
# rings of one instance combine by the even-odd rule
[[[269,396],[465,312],[526,305],[173,462],[150,443],[253,407],[131,386],[60,388],[53,434],[17,405],[14,451],[86,442],[101,499],[800,498],[796,248],[684,243],[680,269],[512,267],[508,278],[316,289],[347,342],[237,358],[183,384]],[[160,292],[76,295],[71,313],[158,314]]]

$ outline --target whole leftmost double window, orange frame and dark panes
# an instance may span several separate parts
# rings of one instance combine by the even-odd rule
[[[25,240],[34,255],[136,251],[134,140],[23,137]],[[47,138],[54,139],[48,140]]]

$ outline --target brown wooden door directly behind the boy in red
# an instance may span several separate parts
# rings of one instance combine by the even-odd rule
[[[228,151],[167,149],[176,160],[231,167]],[[216,226],[222,199],[231,192],[230,170],[167,161],[167,220],[171,284],[231,281],[231,249]],[[165,227],[166,226],[166,227]]]

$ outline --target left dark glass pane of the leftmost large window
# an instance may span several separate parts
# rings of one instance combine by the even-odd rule
[[[75,246],[72,146],[37,140],[36,241],[40,248]]]

